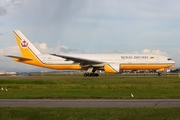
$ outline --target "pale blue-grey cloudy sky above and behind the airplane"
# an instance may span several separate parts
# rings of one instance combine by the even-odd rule
[[[180,67],[179,0],[0,0],[0,70],[35,71],[13,30],[42,53],[153,53]],[[43,69],[47,70],[47,69]]]

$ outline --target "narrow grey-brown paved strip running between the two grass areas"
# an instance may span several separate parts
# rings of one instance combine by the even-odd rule
[[[0,99],[0,107],[180,107],[180,99]]]

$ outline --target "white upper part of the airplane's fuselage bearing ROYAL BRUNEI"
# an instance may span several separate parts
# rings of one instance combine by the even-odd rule
[[[66,54],[67,55],[67,54]],[[84,58],[104,63],[119,64],[174,64],[169,57],[152,54],[68,54],[76,58]],[[38,58],[45,64],[72,64],[64,58],[49,54],[40,54]]]

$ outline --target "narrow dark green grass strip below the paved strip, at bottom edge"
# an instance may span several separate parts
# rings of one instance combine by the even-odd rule
[[[1,108],[1,120],[179,120],[180,108]]]

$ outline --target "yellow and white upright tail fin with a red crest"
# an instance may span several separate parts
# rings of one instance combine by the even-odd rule
[[[41,54],[39,50],[21,33],[21,31],[14,30],[14,35],[22,57],[34,58]]]

